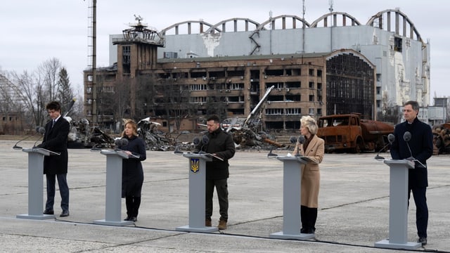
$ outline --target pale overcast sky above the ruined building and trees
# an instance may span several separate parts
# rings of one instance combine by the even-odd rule
[[[15,0],[0,4],[0,70],[33,72],[45,60],[58,58],[68,70],[73,86],[82,87],[88,65],[88,16],[91,0]],[[272,15],[302,18],[302,0],[98,0],[97,66],[109,65],[109,35],[121,34],[141,15],[158,31],[186,20],[216,24],[229,18],[264,22]],[[304,18],[311,23],[328,13],[330,1],[305,0]],[[366,24],[379,11],[400,8],[431,48],[431,93],[450,96],[450,31],[448,0],[334,0],[333,10],[346,12]],[[77,88],[81,89],[81,88]]]

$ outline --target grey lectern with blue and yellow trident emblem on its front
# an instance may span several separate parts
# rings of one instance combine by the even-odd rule
[[[184,154],[189,160],[189,225],[176,231],[214,232],[217,227],[205,226],[205,179],[206,162],[212,161],[207,154]]]

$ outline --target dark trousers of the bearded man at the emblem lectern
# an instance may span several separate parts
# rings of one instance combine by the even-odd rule
[[[205,183],[205,219],[211,220],[212,216],[212,196],[214,186],[219,199],[219,214],[222,221],[228,221],[228,184],[226,179],[206,179]]]

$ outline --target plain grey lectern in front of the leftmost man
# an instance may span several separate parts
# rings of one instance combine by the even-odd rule
[[[44,211],[44,156],[59,155],[59,153],[44,148],[24,148],[28,153],[28,214],[18,214],[20,219],[53,219],[53,214],[42,214]]]

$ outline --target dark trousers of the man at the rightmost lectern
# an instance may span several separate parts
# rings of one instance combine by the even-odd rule
[[[427,237],[428,228],[428,205],[427,205],[427,188],[409,188],[408,190],[408,206],[409,197],[413,192],[414,202],[416,203],[416,227],[419,237]]]

